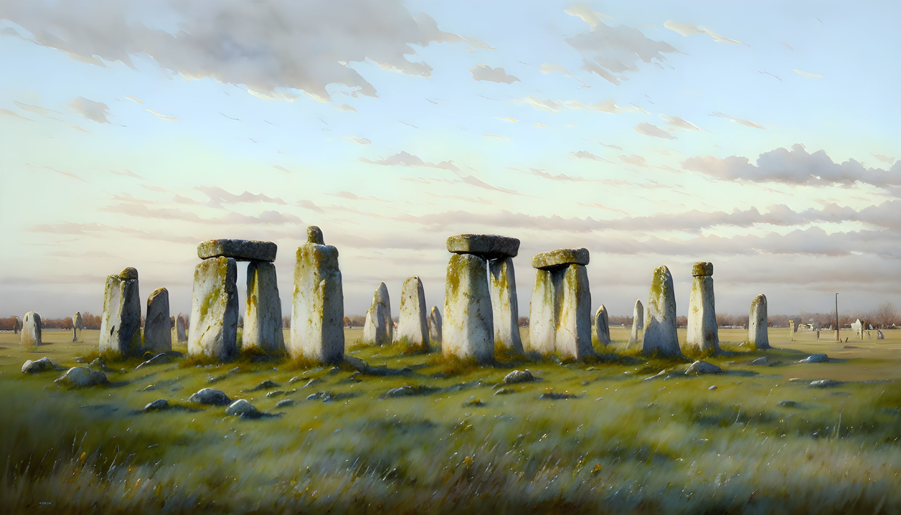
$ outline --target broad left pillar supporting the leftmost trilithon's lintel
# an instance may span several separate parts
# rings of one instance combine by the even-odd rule
[[[187,354],[230,361],[238,355],[238,265],[215,257],[197,264]]]

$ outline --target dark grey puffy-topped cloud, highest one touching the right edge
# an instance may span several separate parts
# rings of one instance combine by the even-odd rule
[[[748,158],[729,156],[725,159],[693,157],[682,162],[682,168],[704,173],[717,179],[783,182],[787,184],[851,186],[857,181],[879,188],[901,186],[901,161],[889,170],[866,169],[852,159],[833,162],[824,151],[807,153],[803,145],[792,150],[778,148],[758,156],[756,166]]]

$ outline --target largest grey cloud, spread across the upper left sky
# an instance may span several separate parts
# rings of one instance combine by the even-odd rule
[[[376,97],[375,87],[349,62],[370,60],[382,69],[429,78],[431,66],[406,59],[416,53],[411,45],[462,42],[491,48],[440,31],[431,17],[411,15],[399,0],[232,0],[160,7],[160,19],[177,20],[177,32],[141,23],[138,0],[11,0],[4,17],[32,32],[38,44],[76,60],[101,67],[119,60],[136,69],[132,56],[146,53],[186,78],[243,84],[260,97],[277,99],[294,98],[290,90],[299,89],[328,100],[326,85],[334,83],[354,96]]]

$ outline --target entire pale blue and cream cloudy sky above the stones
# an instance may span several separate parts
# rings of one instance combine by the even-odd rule
[[[346,314],[450,235],[585,247],[592,311],[693,262],[718,312],[901,304],[897,3],[0,3],[0,316],[189,312],[196,244],[335,245]],[[897,158],[897,159],[896,159]],[[246,263],[239,264],[243,297]],[[396,301],[395,301],[396,302]],[[395,313],[397,306],[394,307]]]

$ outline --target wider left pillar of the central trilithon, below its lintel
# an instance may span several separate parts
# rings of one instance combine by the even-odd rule
[[[444,285],[442,353],[487,363],[495,356],[494,315],[486,261],[453,254]]]

